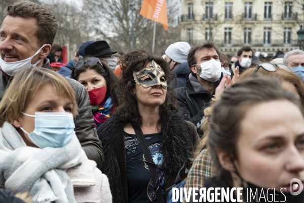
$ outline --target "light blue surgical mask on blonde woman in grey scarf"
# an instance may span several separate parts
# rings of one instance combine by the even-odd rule
[[[63,147],[75,134],[73,115],[70,113],[36,112],[35,115],[21,113],[35,118],[34,131],[28,133],[22,127],[20,128],[39,148]]]

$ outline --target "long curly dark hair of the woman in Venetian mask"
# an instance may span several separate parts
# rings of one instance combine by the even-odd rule
[[[119,98],[119,106],[115,110],[115,114],[120,120],[133,122],[139,126],[142,125],[141,116],[138,112],[137,98],[132,94],[132,90],[136,85],[133,72],[140,71],[148,63],[151,63],[152,60],[162,67],[168,84],[165,102],[160,106],[160,117],[162,118],[162,115],[166,114],[166,111],[178,111],[175,91],[169,86],[170,82],[175,79],[175,74],[170,71],[168,62],[154,53],[132,51],[122,56],[120,62],[122,63],[123,74],[122,78],[115,85],[116,89],[120,90],[116,92],[116,97]]]

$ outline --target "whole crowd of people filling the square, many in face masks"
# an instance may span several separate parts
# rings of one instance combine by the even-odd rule
[[[304,202],[304,51],[87,41],[63,63],[57,29],[30,2],[0,28],[0,202],[165,203],[176,187]]]

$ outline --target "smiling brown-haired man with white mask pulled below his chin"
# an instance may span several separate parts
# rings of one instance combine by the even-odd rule
[[[29,64],[51,69],[46,57],[51,50],[57,27],[55,16],[40,5],[18,2],[7,8],[0,29],[0,99],[18,70]],[[79,114],[74,119],[75,133],[88,158],[96,161],[100,167],[103,153],[94,127],[89,95],[79,82],[67,80],[75,91],[79,109]]]

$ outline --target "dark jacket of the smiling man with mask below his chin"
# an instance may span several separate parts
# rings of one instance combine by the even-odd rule
[[[48,59],[45,59],[43,67],[50,67]],[[0,71],[0,100],[3,98],[10,79],[9,76]],[[101,142],[97,138],[97,132],[94,126],[88,92],[78,81],[70,78],[66,78],[66,80],[75,92],[78,106],[78,116],[74,118],[76,136],[88,158],[94,160],[97,163],[97,167],[100,168],[104,157]]]

